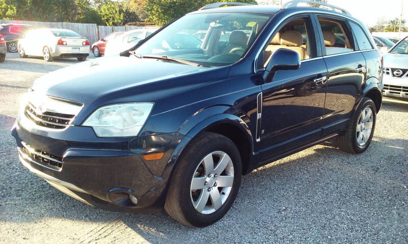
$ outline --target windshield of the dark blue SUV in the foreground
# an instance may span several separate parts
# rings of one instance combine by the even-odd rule
[[[237,62],[251,47],[273,15],[256,13],[189,14],[151,37],[138,56],[188,60],[204,67]],[[197,33],[204,37],[197,38]]]

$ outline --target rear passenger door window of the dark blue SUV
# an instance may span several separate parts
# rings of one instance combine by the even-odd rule
[[[319,17],[326,55],[355,51],[346,23],[342,20]]]

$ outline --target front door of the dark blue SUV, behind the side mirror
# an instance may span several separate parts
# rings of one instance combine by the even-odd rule
[[[327,68],[321,56],[320,39],[312,16],[297,15],[277,28],[264,49],[266,64],[279,48],[299,54],[298,70],[277,71],[270,83],[262,85],[262,119],[257,134],[261,160],[267,160],[321,137],[321,117],[326,95]],[[292,37],[296,37],[291,40]],[[279,39],[277,38],[277,39]],[[318,48],[319,47],[319,48]]]

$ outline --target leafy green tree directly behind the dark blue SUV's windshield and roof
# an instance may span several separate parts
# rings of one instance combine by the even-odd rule
[[[171,20],[181,17],[186,13],[216,2],[240,2],[257,4],[254,0],[148,0],[147,12],[149,20],[158,25],[163,25]]]

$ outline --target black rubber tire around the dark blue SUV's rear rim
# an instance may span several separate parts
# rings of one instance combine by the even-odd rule
[[[358,139],[357,139],[357,135],[358,135],[357,125],[359,124],[360,115],[363,109],[366,109],[366,108],[370,108],[372,110],[372,115],[373,115],[372,128],[371,128],[371,132],[370,132],[370,136],[368,137],[368,140],[366,140],[366,143],[363,146],[361,146],[359,145]],[[365,150],[367,150],[373,138],[375,122],[376,122],[376,115],[377,115],[377,110],[376,110],[374,102],[370,98],[363,98],[363,101],[361,101],[359,107],[356,109],[355,113],[351,117],[350,124],[347,127],[345,134],[336,138],[336,144],[339,146],[339,148],[350,154],[361,154]]]

